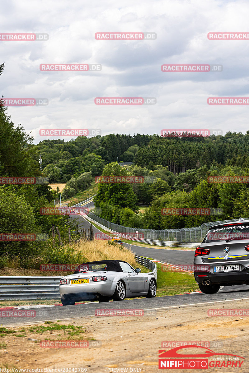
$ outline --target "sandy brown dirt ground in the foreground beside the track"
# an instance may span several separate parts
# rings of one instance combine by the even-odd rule
[[[209,308],[247,309],[249,302],[248,300],[227,301],[153,311],[152,316],[91,316],[57,323],[58,325],[67,325],[69,328],[70,325],[82,327],[84,333],[80,332],[75,336],[70,336],[67,331],[64,334],[62,330],[34,332],[29,330],[30,327],[33,327],[31,325],[22,326],[19,329],[13,327],[12,329],[15,329],[19,336],[14,334],[1,336],[0,360],[2,366],[0,364],[0,367],[49,368],[50,372],[59,372],[59,368],[65,368],[60,370],[61,372],[70,371],[69,368],[71,368],[71,372],[84,372],[85,368],[85,371],[89,373],[125,371],[153,373],[158,372],[158,350],[162,348],[162,341],[203,341],[211,342],[209,348],[216,353],[234,354],[245,358],[240,368],[239,365],[236,368],[213,367],[205,369],[204,372],[248,373],[249,317],[209,317],[207,313]],[[48,327],[52,324],[36,324],[35,327],[37,325]],[[39,342],[46,339],[88,340],[90,344],[95,344],[95,346],[101,344],[101,347],[40,347]],[[172,347],[175,346],[172,345]],[[166,350],[169,349],[166,348]],[[189,351],[189,349],[182,351],[186,350]],[[209,362],[212,359],[209,357]],[[220,362],[218,362],[219,364]],[[74,370],[72,370],[73,368]],[[184,369],[184,372],[201,371],[203,370]]]

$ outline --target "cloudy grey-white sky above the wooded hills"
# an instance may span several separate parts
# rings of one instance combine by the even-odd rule
[[[249,40],[208,40],[208,32],[249,32],[247,1],[2,0],[0,33],[47,33],[48,41],[0,41],[5,98],[47,98],[8,107],[34,136],[41,128],[100,128],[102,135],[161,129],[245,133],[247,105],[208,97],[249,97]],[[156,40],[95,40],[96,32],[156,32]],[[99,72],[42,72],[42,63],[100,63]],[[222,72],[162,72],[162,64],[221,64]],[[155,105],[96,105],[95,97],[156,97]],[[64,137],[69,141],[71,137]]]

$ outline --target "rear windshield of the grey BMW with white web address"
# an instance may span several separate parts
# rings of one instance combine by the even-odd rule
[[[232,241],[238,239],[249,239],[248,223],[224,224],[221,227],[209,229],[203,244],[209,242]]]

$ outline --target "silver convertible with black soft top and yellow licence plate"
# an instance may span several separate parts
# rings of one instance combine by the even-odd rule
[[[100,260],[83,263],[73,275],[60,280],[63,305],[77,301],[109,302],[125,298],[156,296],[155,273],[140,273],[123,260]]]

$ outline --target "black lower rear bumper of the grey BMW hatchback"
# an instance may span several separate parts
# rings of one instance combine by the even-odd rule
[[[245,268],[240,272],[194,272],[194,279],[198,284],[202,281],[209,280],[211,284],[220,284],[221,286],[227,285],[249,285],[249,268]]]

